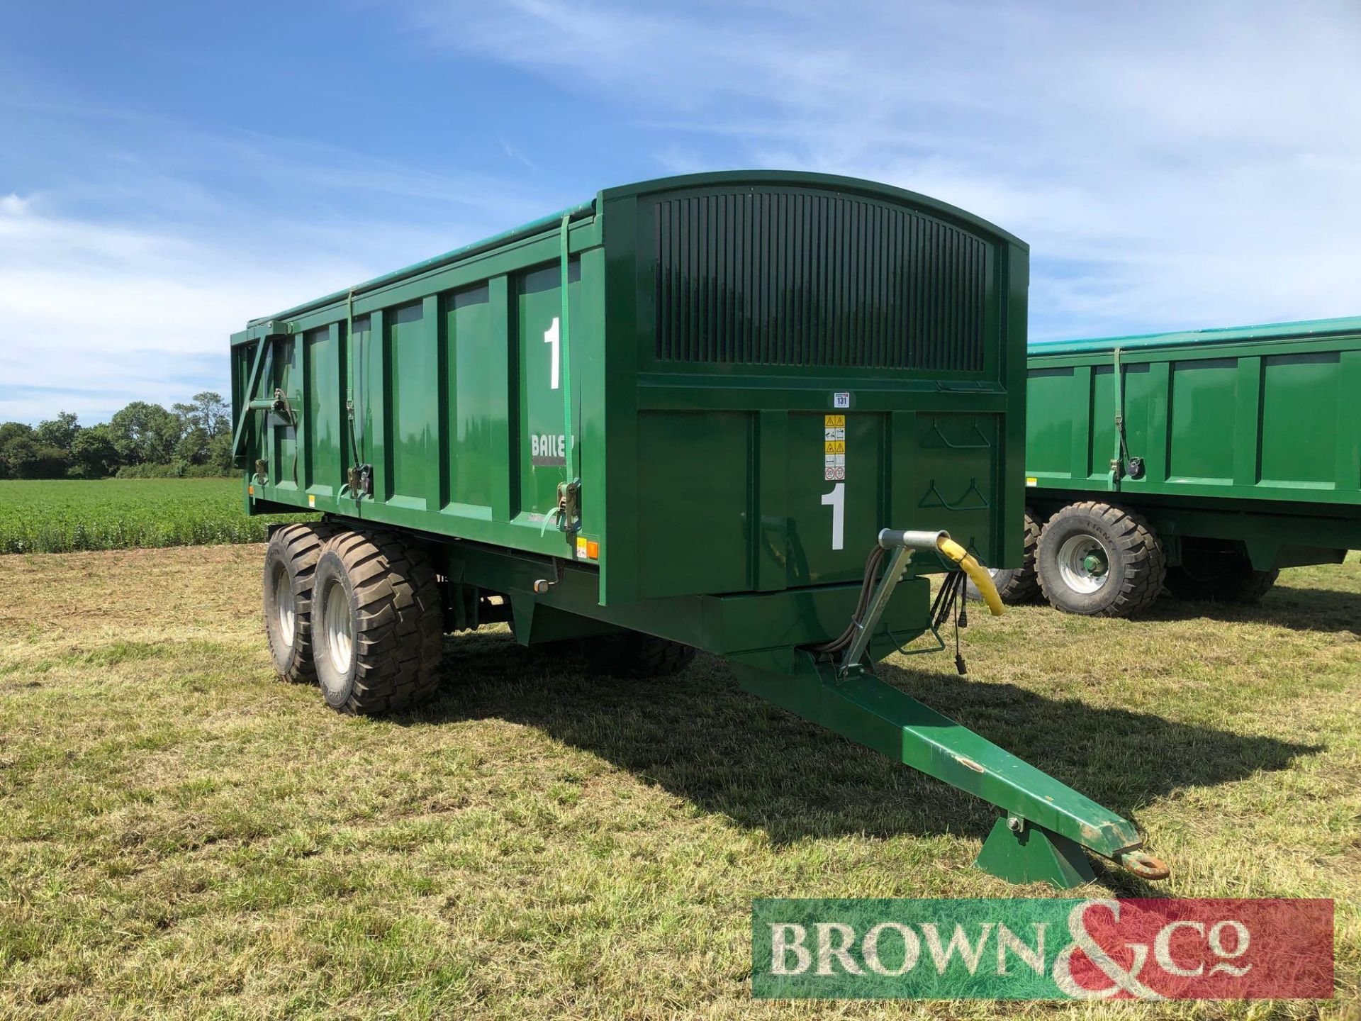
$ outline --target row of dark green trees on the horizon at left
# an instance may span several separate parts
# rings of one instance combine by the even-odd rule
[[[178,478],[231,474],[231,408],[212,391],[188,404],[133,400],[83,426],[61,411],[0,425],[0,479]]]

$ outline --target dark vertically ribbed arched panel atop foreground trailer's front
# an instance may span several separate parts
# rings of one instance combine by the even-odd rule
[[[659,362],[984,369],[983,238],[821,192],[675,196],[652,215]]]

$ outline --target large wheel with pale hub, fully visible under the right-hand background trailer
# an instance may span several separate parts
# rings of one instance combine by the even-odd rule
[[[1036,573],[1056,610],[1128,617],[1153,604],[1166,554],[1141,515],[1111,504],[1070,504],[1045,523]]]

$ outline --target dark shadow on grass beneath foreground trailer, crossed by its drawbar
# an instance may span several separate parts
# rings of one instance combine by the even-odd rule
[[[902,832],[983,837],[985,802],[739,690],[700,653],[659,681],[591,675],[578,658],[508,636],[446,641],[442,697],[411,722],[502,719],[588,750],[774,843]],[[885,666],[883,677],[1130,817],[1183,787],[1283,769],[1320,746],[1059,701],[1013,685]]]

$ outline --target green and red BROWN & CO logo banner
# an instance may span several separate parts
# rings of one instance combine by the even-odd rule
[[[758,900],[759,999],[1332,995],[1332,901]]]

